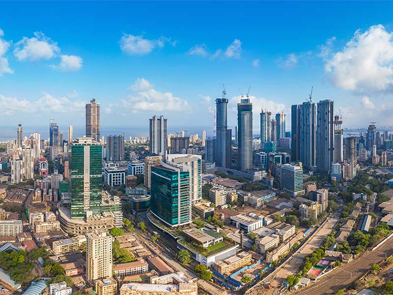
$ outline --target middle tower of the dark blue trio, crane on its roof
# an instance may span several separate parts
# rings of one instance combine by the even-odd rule
[[[299,105],[300,161],[306,167],[315,166],[316,106],[312,101]]]

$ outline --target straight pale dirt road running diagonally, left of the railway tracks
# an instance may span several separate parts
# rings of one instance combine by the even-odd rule
[[[336,226],[339,216],[340,212],[332,214],[331,217],[309,237],[309,240],[305,244],[263,281],[270,282],[270,286],[273,287],[273,290],[280,288],[282,282],[288,275],[295,274],[298,271],[299,267],[303,264],[304,258],[318,249],[325,237],[328,236]],[[255,288],[247,292],[247,294],[257,295],[260,293],[260,288],[260,286],[255,286]]]

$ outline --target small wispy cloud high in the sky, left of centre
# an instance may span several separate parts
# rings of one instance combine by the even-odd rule
[[[176,45],[176,41],[171,41],[170,38],[161,36],[157,40],[149,40],[143,36],[123,34],[120,38],[120,49],[122,52],[129,55],[145,55],[153,51],[157,47],[164,47],[166,43],[172,46]]]

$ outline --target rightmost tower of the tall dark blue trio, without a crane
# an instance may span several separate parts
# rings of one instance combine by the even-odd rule
[[[330,173],[334,160],[334,102],[327,99],[317,103],[316,166]]]

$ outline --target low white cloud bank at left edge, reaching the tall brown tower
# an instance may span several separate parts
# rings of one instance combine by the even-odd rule
[[[7,97],[0,94],[0,109],[4,115],[13,115],[15,113],[83,113],[85,103],[83,101],[70,100],[67,96],[54,97],[44,92],[44,95],[35,100],[18,99],[16,97]]]

